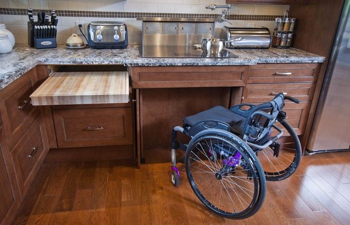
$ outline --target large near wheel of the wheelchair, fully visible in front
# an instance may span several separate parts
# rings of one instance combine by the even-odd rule
[[[216,158],[209,155],[211,151]],[[198,133],[186,149],[185,168],[197,197],[220,216],[247,218],[264,202],[266,180],[261,164],[235,134],[217,129]]]

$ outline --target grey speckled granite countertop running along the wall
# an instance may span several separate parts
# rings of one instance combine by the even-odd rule
[[[254,65],[257,63],[320,63],[324,57],[297,49],[232,49],[238,58],[142,58],[139,46],[127,49],[80,49],[64,46],[37,50],[18,45],[0,55],[0,89],[25,74],[37,64],[124,64],[127,66],[161,65]]]

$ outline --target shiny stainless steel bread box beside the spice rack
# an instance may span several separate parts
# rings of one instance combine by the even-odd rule
[[[231,40],[234,38],[243,37],[240,41],[230,43],[228,48],[258,48],[268,49],[271,46],[271,33],[268,28],[223,28],[221,38]]]

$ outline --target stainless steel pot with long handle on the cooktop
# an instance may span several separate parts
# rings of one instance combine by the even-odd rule
[[[237,37],[231,40],[219,38],[204,38],[202,40],[202,51],[209,54],[220,54],[226,48],[229,48],[231,42],[240,41],[244,37]]]

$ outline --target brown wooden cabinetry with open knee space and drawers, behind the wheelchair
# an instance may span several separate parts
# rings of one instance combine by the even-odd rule
[[[264,63],[250,66],[136,66],[130,68],[136,93],[138,161],[145,149],[170,148],[171,128],[182,119],[222,105],[260,104],[277,93],[286,101],[288,122],[305,133],[319,74],[318,63]],[[186,143],[187,137],[179,137]]]

